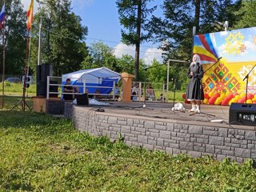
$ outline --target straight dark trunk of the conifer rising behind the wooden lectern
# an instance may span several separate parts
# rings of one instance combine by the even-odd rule
[[[142,23],[142,0],[138,0],[138,17],[137,17],[137,31],[136,31],[136,43],[135,43],[135,64],[134,75],[135,81],[138,81],[138,69],[139,69],[139,50],[140,50],[140,38],[141,38],[141,23]]]

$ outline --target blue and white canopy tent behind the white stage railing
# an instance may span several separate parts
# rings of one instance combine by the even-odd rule
[[[118,83],[120,74],[106,67],[95,68],[90,70],[78,70],[70,74],[62,74],[62,84],[70,78],[71,85],[79,86],[79,92],[84,93],[85,84],[89,94],[95,94],[99,90],[100,94],[110,94],[111,87]]]

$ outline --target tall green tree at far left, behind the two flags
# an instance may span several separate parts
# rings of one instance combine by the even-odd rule
[[[26,14],[20,0],[6,1],[5,37],[6,74],[21,75],[26,58]],[[2,42],[2,35],[0,38]],[[2,58],[2,46],[0,54]]]

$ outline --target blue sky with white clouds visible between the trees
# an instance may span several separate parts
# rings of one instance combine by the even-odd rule
[[[41,0],[42,1],[42,0]],[[151,6],[158,5],[154,14],[160,15],[160,5],[163,0],[155,0]],[[24,9],[28,10],[30,0],[22,0]],[[72,11],[82,18],[82,25],[88,27],[86,43],[102,41],[114,49],[117,58],[122,54],[130,54],[134,57],[135,47],[126,46],[121,42],[122,26],[118,19],[118,9],[115,0],[72,0]],[[34,12],[38,9],[38,2],[34,1]],[[144,43],[141,46],[140,58],[143,58],[147,65],[153,59],[162,62],[162,52],[158,50],[158,44]]]

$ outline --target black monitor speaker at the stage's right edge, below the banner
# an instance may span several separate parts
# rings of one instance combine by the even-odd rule
[[[233,102],[229,122],[234,125],[256,126],[256,104]]]

